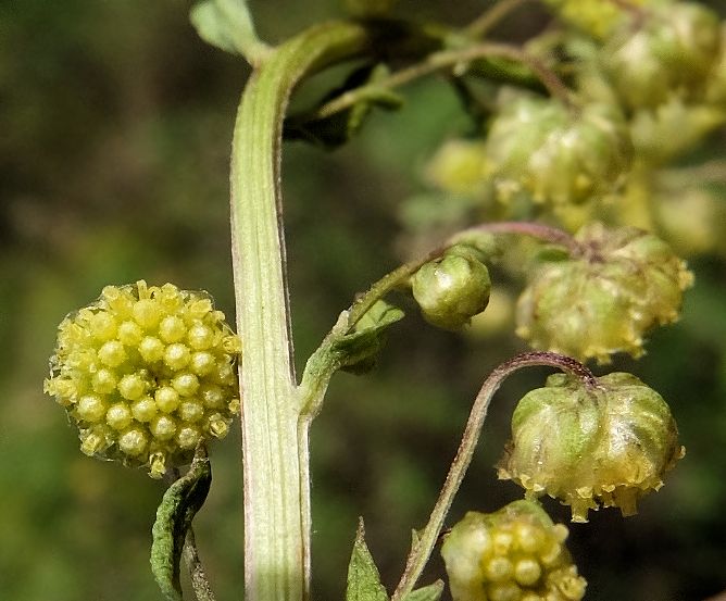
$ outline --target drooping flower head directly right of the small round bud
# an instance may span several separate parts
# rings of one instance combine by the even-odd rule
[[[575,239],[577,255],[536,267],[517,302],[517,335],[536,349],[579,360],[642,354],[649,329],[678,320],[691,273],[664,241],[641,229],[592,223]]]

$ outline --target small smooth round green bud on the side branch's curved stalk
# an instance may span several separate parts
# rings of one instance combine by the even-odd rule
[[[481,313],[489,302],[491,280],[475,251],[452,247],[441,259],[424,264],[412,277],[413,296],[424,318],[445,329],[456,329]]]

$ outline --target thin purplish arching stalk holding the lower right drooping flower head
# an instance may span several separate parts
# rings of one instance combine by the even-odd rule
[[[396,588],[396,592],[391,601],[399,601],[406,593],[411,592],[416,585],[416,580],[424,571],[426,563],[436,546],[439,538],[443,521],[451,508],[453,498],[461,486],[466,469],[472,463],[474,450],[481,434],[481,427],[487,416],[487,410],[495,392],[499,389],[501,384],[514,372],[523,367],[533,365],[549,365],[558,367],[564,372],[579,377],[588,387],[597,386],[597,380],[590,371],[578,361],[551,352],[531,352],[517,355],[497,367],[489,377],[484,381],[479,393],[474,400],[472,412],[470,413],[464,434],[462,436],[461,445],[456,451],[456,456],[451,463],[449,474],[447,475],[439,498],[434,505],[431,515],[428,518],[428,524],[422,530],[420,538],[413,544],[409,559],[406,561],[405,571],[401,577],[401,581]]]

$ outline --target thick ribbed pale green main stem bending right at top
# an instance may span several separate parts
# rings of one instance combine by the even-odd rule
[[[299,424],[281,227],[279,153],[289,95],[310,71],[361,52],[355,24],[311,28],[274,49],[247,84],[231,155],[231,252],[243,341],[245,599],[310,591],[306,423]]]

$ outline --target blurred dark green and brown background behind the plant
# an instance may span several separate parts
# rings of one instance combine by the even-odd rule
[[[304,7],[303,7],[304,5]],[[463,24],[485,4],[402,2]],[[715,5],[715,3],[714,3]],[[334,0],[252,2],[272,41],[341,14]],[[180,0],[0,3],[0,599],[155,600],[148,564],[162,486],[77,450],[42,395],[55,327],[105,284],[146,278],[211,291],[231,318],[227,177],[241,61],[200,41]],[[527,23],[543,13],[528,9]],[[503,33],[520,30],[508,22]],[[406,90],[334,153],[286,147],[284,188],[299,366],[353,295],[405,254],[398,208],[425,160],[467,126],[436,78]],[[724,148],[722,134],[710,143]],[[724,234],[726,234],[726,224]],[[601,511],[571,526],[592,601],[697,601],[726,588],[726,270],[694,258],[680,323],[619,360],[672,404],[688,448],[637,517]],[[424,524],[481,379],[525,349],[510,334],[456,336],[409,318],[379,368],[336,376],[313,427],[315,599],[340,599],[356,525],[396,583],[410,529]],[[511,331],[511,328],[510,328]],[[450,515],[518,497],[492,468],[515,400],[549,372],[499,392]],[[197,518],[220,601],[242,581],[239,440],[212,449],[214,483]],[[547,503],[559,519],[567,510]],[[426,578],[442,575],[435,559]]]

